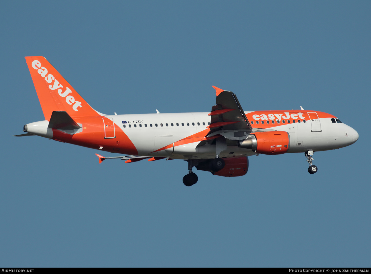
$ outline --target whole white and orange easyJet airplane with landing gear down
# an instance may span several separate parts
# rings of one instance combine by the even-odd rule
[[[305,153],[314,174],[313,153],[349,146],[358,133],[334,115],[301,109],[243,111],[236,94],[212,86],[210,112],[106,115],[93,109],[42,56],[25,57],[45,120],[24,125],[27,132],[105,152],[133,163],[147,159],[188,162],[185,186],[197,183],[197,170],[243,176],[252,155]],[[103,154],[103,153],[101,153]]]

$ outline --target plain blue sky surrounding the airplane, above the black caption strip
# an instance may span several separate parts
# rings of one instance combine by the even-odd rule
[[[0,9],[0,265],[370,267],[369,1],[8,1]],[[305,109],[359,133],[347,148],[250,157],[236,178],[180,160],[98,165],[32,136],[24,56],[42,55],[96,110]],[[10,123],[12,122],[12,123]],[[107,153],[106,153],[107,154]],[[111,156],[111,155],[109,155]]]

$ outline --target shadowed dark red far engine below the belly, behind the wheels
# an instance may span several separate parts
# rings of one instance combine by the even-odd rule
[[[200,162],[196,168],[198,170],[210,171],[213,175],[224,177],[243,176],[249,169],[249,159],[247,157],[224,158],[224,168],[218,171],[215,171],[213,168],[213,160],[214,159],[209,159],[204,162]]]

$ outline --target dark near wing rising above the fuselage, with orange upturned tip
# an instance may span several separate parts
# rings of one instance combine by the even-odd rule
[[[231,91],[214,87],[216,90],[216,105],[211,108],[210,129],[252,129],[236,94]]]

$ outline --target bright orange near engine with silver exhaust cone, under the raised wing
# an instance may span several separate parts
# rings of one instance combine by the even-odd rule
[[[262,154],[283,154],[289,149],[290,137],[286,131],[263,131],[250,133],[239,142],[240,148],[251,149]]]

